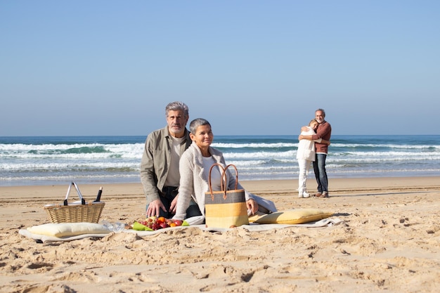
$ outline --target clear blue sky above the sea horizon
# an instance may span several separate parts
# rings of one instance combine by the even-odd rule
[[[0,136],[440,134],[440,1],[0,0]]]

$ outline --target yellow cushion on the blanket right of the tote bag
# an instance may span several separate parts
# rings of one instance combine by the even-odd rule
[[[254,220],[254,223],[302,224],[319,221],[332,215],[333,213],[321,209],[288,209],[287,211],[276,211],[271,214],[259,216],[258,219]]]

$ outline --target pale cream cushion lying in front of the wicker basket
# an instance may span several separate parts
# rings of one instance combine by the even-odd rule
[[[32,234],[66,237],[82,234],[108,234],[110,230],[98,223],[47,223],[27,228]]]

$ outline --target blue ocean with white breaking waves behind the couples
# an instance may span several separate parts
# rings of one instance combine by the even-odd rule
[[[214,136],[239,181],[297,179],[298,136]],[[0,137],[0,186],[140,183],[146,136]],[[333,135],[329,178],[440,175],[440,136]],[[313,177],[313,169],[309,174]]]

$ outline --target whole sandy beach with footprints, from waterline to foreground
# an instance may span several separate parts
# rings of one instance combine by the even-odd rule
[[[438,292],[440,177],[330,178],[328,199],[299,199],[296,180],[241,183],[280,211],[344,222],[37,243],[18,230],[48,223],[43,206],[62,202],[67,184],[0,187],[0,292]],[[99,185],[79,188],[94,200]],[[143,218],[140,183],[103,185],[102,200],[101,220]]]

